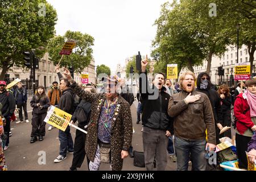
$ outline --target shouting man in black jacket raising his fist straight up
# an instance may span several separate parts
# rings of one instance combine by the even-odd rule
[[[166,93],[163,73],[155,75],[153,93],[147,84],[147,58],[142,60],[142,70],[139,80],[139,90],[142,97],[142,124],[143,124],[143,150],[145,166],[148,171],[156,169],[164,171],[167,165],[167,143],[171,136],[171,118],[169,117],[168,101],[170,95]],[[146,83],[146,85],[144,84]],[[144,84],[144,85],[143,85]],[[146,91],[146,92],[145,92]],[[151,90],[152,91],[152,90]]]

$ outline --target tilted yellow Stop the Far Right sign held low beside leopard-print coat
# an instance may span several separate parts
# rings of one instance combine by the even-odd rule
[[[55,126],[57,129],[65,131],[69,122],[71,121],[71,114],[66,113],[63,110],[55,106],[51,106],[49,109],[44,122],[49,123],[52,126]]]

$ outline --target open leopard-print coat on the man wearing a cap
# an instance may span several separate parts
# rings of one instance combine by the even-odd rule
[[[88,124],[88,133],[85,142],[85,151],[90,161],[94,160],[98,142],[98,118],[106,96],[104,93],[89,93],[81,89],[76,82],[71,85],[74,92],[83,100],[92,103],[92,113]],[[113,171],[120,171],[123,166],[121,151],[129,150],[133,137],[133,123],[131,119],[130,105],[121,96],[118,96],[117,106],[112,121],[110,155]]]

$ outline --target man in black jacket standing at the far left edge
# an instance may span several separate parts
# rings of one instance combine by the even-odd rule
[[[9,132],[11,131],[10,117],[13,115],[15,110],[15,99],[11,92],[6,90],[6,82],[0,81],[0,102],[3,106],[2,115],[6,120],[6,125],[3,126],[5,133],[7,135],[7,140],[4,150],[9,147]]]

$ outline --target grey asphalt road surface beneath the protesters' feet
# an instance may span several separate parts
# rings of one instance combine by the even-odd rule
[[[30,143],[30,133],[31,133],[31,107],[29,105],[30,100],[28,100],[28,119],[29,123],[23,122],[16,124],[15,122],[11,123],[11,132],[13,136],[10,137],[10,144],[8,150],[5,151],[7,166],[10,171],[30,171],[30,170],[49,170],[56,171],[62,170],[67,171],[72,163],[72,154],[68,155],[68,158],[63,160],[61,163],[53,163],[53,160],[59,155],[59,139],[58,139],[58,130],[53,129],[51,131],[46,130],[46,137],[44,140],[35,143]],[[131,106],[131,113],[133,117],[133,126],[135,133],[133,134],[133,148],[137,151],[143,151],[142,146],[142,125],[136,124],[137,121],[137,101],[134,101],[134,104]],[[48,127],[46,127],[48,129]],[[75,138],[75,129],[71,129],[72,137]],[[42,161],[40,159],[42,156],[40,152],[46,152],[46,164],[39,164]],[[86,162],[84,162],[80,169],[81,171],[87,171]],[[102,163],[100,170],[109,171],[109,164]],[[137,170],[146,170],[146,168],[139,168],[133,166],[133,158],[127,157],[123,162],[123,170],[125,171],[137,171]],[[176,163],[172,163],[170,158],[168,158],[168,164],[166,170],[176,170]]]

